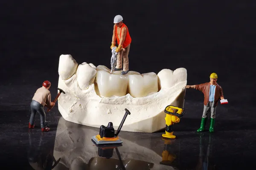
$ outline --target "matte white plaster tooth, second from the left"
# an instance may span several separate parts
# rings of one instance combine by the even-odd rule
[[[96,77],[96,67],[93,67],[93,64],[87,64],[87,62],[83,62],[77,68],[77,82],[81,90],[86,90],[90,84],[94,82]]]

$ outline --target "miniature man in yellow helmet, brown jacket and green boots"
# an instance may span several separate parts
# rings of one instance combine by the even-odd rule
[[[205,124],[207,122],[207,114],[211,112],[211,123],[209,132],[212,133],[215,123],[216,107],[219,99],[224,99],[223,91],[220,85],[217,84],[217,74],[212,73],[210,75],[210,82],[206,82],[200,85],[187,85],[186,88],[195,88],[204,93],[204,111],[201,119],[201,126],[197,132],[204,131]]]

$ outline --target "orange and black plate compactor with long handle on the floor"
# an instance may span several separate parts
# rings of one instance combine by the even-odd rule
[[[107,127],[105,127],[104,125],[100,126],[99,134],[92,137],[93,141],[96,144],[121,144],[122,141],[118,138],[118,134],[128,114],[131,114],[130,111],[128,111],[128,109],[125,109],[125,116],[123,117],[122,122],[120,123],[116,131],[116,134],[113,123],[109,122]]]

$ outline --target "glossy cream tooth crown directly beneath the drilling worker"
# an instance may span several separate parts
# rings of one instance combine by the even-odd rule
[[[128,77],[117,72],[110,74],[110,69],[104,65],[96,68],[96,80],[99,88],[99,95],[104,97],[125,96],[128,86]]]

